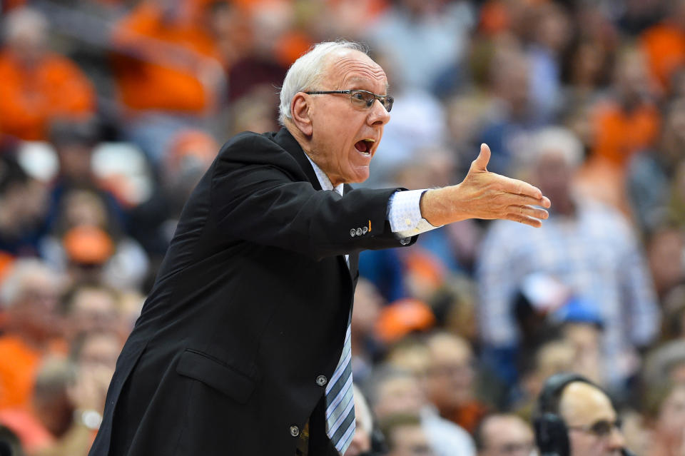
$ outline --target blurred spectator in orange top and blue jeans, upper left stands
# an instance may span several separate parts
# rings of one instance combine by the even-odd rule
[[[124,130],[154,163],[174,131],[200,125],[221,98],[225,76],[204,13],[190,1],[146,0],[116,25]]]

